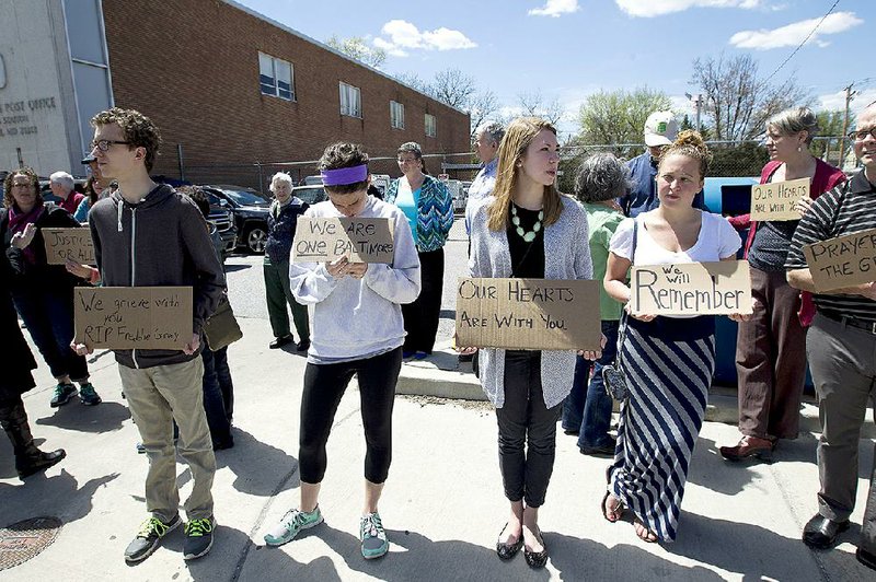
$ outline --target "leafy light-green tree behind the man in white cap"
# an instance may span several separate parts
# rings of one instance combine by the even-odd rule
[[[666,93],[647,86],[599,91],[588,96],[578,110],[579,131],[575,141],[580,146],[613,144],[618,155],[637,155],[644,151],[644,144],[638,144],[643,142],[648,115],[671,106]]]

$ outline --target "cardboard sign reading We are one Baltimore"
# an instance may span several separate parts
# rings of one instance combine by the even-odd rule
[[[350,263],[392,263],[392,219],[298,217],[292,263],[330,263],[346,256]]]

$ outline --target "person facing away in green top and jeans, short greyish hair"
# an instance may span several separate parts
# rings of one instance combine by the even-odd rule
[[[630,186],[630,168],[610,153],[589,156],[575,176],[575,197],[587,212],[590,259],[593,279],[598,281],[606,276],[609,242],[624,218],[615,199],[623,196]],[[563,406],[563,430],[578,434],[578,449],[583,454],[611,456],[615,445],[614,438],[609,434],[612,401],[606,392],[602,369],[614,363],[623,306],[610,298],[601,284],[599,312],[606,347],[596,361],[578,356],[572,392]]]

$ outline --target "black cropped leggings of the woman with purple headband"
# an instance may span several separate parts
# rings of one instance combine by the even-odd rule
[[[365,426],[365,478],[373,484],[387,480],[392,462],[392,406],[401,369],[402,348],[351,362],[308,363],[301,395],[298,451],[303,482],[319,484],[325,476],[325,443],[337,406],[354,373],[359,381]]]

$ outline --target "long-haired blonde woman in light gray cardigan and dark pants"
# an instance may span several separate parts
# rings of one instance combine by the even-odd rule
[[[494,195],[469,208],[472,277],[590,279],[587,216],[554,183],[556,129],[539,118],[515,119],[499,146]],[[460,348],[470,353],[472,348]],[[580,352],[595,359],[598,352]],[[480,377],[496,407],[499,468],[510,502],[496,552],[548,561],[538,525],[556,449],[556,422],[572,389],[575,351],[483,349]]]

